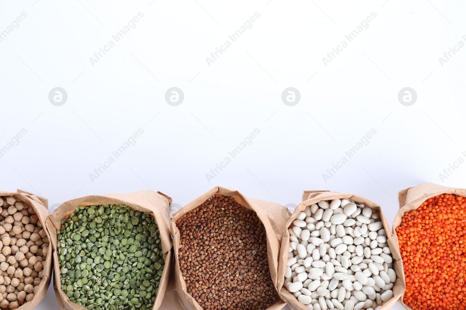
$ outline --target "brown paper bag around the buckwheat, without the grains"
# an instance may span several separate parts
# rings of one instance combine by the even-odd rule
[[[270,270],[270,276],[272,277],[272,282],[275,289],[277,289],[277,266],[278,266],[278,255],[280,251],[281,240],[277,237],[283,233],[283,227],[288,221],[289,213],[288,210],[281,204],[275,204],[267,201],[257,200],[246,198],[239,191],[231,190],[225,187],[217,186],[212,188],[210,191],[202,194],[198,198],[192,200],[190,203],[186,204],[183,208],[175,211],[170,217],[170,226],[171,233],[173,235],[173,251],[175,256],[175,267],[174,267],[174,276],[175,276],[175,290],[178,298],[181,299],[181,303],[184,305],[186,310],[201,310],[201,306],[197,301],[191,297],[191,295],[186,291],[186,283],[181,274],[178,261],[178,249],[179,249],[179,230],[176,226],[176,221],[182,217],[185,212],[191,211],[197,208],[200,204],[204,203],[207,199],[211,198],[214,194],[231,196],[237,203],[241,204],[247,209],[253,210],[256,212],[260,221],[265,227],[267,233],[267,255],[268,255],[268,265]],[[278,291],[278,290],[277,290]],[[176,298],[175,292],[170,297]],[[167,298],[168,299],[168,298]],[[283,308],[285,302],[279,301],[275,303],[272,307],[267,308],[268,310],[279,310]],[[167,307],[164,310],[175,310],[180,309],[175,304],[167,304]]]

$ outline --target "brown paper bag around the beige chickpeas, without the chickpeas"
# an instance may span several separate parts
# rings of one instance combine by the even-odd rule
[[[48,212],[48,202],[46,198],[42,198],[40,196],[34,195],[27,191],[16,190],[16,192],[11,191],[0,191],[0,196],[13,196],[17,200],[21,200],[22,202],[30,205],[33,207],[35,214],[39,217],[39,221],[44,228],[44,231],[48,237],[50,238],[50,233],[46,228],[46,218],[50,214]],[[39,289],[37,293],[34,294],[34,298],[27,303],[24,303],[22,306],[18,307],[18,310],[33,310],[44,298],[45,293],[47,292],[48,286],[50,285],[50,278],[52,275],[52,247],[48,247],[47,257],[44,262],[42,262],[43,266],[43,276],[41,284],[39,284]]]

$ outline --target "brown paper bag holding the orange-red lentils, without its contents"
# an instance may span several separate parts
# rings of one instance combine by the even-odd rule
[[[397,238],[397,231],[395,230],[400,224],[404,216],[404,212],[409,212],[411,210],[416,210],[418,207],[425,202],[427,199],[435,197],[441,194],[454,194],[462,197],[466,197],[466,189],[464,188],[453,188],[446,187],[443,185],[437,185],[433,183],[423,183],[415,187],[409,187],[402,191],[398,192],[398,200],[400,203],[400,210],[395,216],[393,221],[392,233]],[[404,308],[412,310],[410,306],[404,303],[404,292],[399,297],[399,303],[403,305]]]

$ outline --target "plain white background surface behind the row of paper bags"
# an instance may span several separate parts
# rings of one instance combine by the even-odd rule
[[[53,211],[74,197],[147,188],[180,205],[215,185],[281,204],[325,189],[369,198],[391,222],[401,189],[466,186],[466,164],[439,178],[466,158],[466,47],[439,61],[466,43],[464,2],[268,1],[1,1],[0,32],[27,14],[0,42],[0,148],[27,130],[0,158],[1,190],[40,194]],[[92,66],[138,12],[136,28]],[[254,12],[252,28],[209,66]],[[371,12],[369,27],[325,66]],[[48,100],[54,87],[68,94],[62,106]],[[184,92],[179,106],[165,102],[170,87]],[[295,106],[281,100],[287,87],[301,93]],[[411,106],[398,101],[404,87],[417,92]],[[136,144],[92,181],[138,128]],[[254,128],[253,143],[209,182]],[[325,182],[371,128],[369,144]],[[37,309],[56,308],[51,285]]]

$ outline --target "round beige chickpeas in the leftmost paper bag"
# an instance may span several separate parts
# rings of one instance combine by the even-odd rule
[[[32,206],[13,196],[0,206],[0,308],[16,309],[34,298],[49,243]]]

